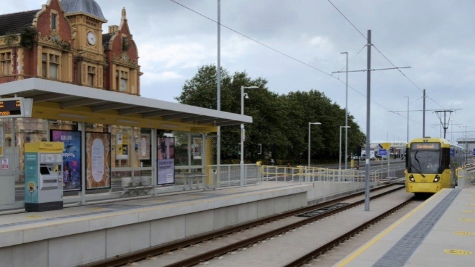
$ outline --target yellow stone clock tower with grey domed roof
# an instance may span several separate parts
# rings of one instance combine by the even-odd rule
[[[103,88],[107,65],[102,46],[102,24],[107,20],[95,0],[61,0],[73,29],[76,55],[76,82],[82,86]]]

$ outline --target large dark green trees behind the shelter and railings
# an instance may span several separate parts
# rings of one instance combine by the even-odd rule
[[[205,65],[196,75],[187,80],[183,91],[176,99],[209,109],[217,107],[217,69]],[[251,79],[245,72],[231,75],[221,69],[221,110],[241,113],[241,86],[258,86],[259,89],[245,89],[249,98],[244,99],[244,114],[253,122],[245,125],[244,159],[247,162],[276,160],[278,165],[307,164],[308,123],[311,125],[311,158],[317,161],[337,160],[339,155],[339,127],[345,125],[345,110],[340,108],[323,92],[289,92],[279,95],[271,92],[264,78]],[[354,118],[348,115],[348,153],[356,151],[365,142]],[[344,129],[342,130],[344,133]],[[240,127],[221,127],[222,163],[239,162],[238,143]],[[258,155],[258,143],[262,144],[262,154]]]

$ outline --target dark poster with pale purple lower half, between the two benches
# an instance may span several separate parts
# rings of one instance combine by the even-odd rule
[[[175,183],[175,137],[158,137],[157,184]]]

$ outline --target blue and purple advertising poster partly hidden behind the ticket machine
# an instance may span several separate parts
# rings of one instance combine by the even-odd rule
[[[81,190],[81,132],[51,130],[51,142],[63,142],[63,191]]]

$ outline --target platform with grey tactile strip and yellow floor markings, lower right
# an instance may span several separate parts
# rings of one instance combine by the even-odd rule
[[[475,187],[443,189],[334,267],[472,267]]]

